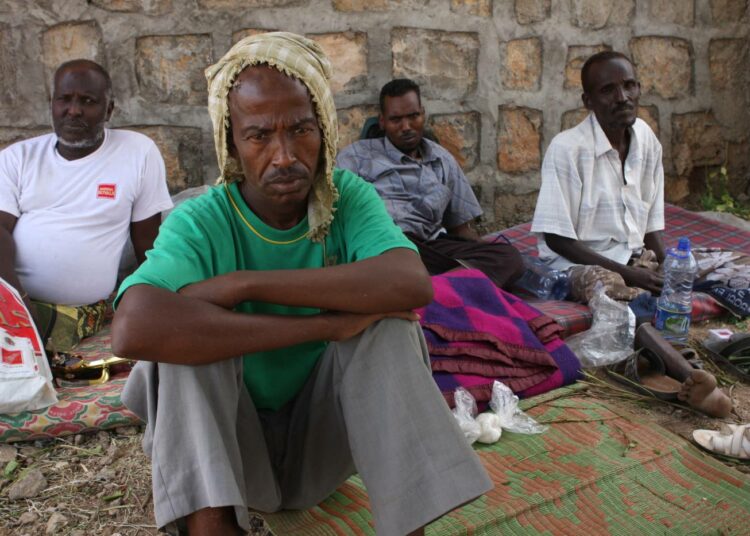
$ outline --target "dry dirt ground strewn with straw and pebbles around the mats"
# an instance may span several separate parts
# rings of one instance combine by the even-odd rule
[[[693,340],[702,340],[712,327],[748,331],[746,322],[712,321],[693,325]],[[736,414],[726,421],[750,422],[750,385],[722,374],[711,362],[706,362],[706,368],[716,373],[734,401]],[[616,400],[643,419],[687,440],[696,428],[720,426],[717,419],[689,409],[613,393],[597,386],[587,391],[588,396]],[[51,441],[0,445],[0,536],[161,534],[154,524],[150,464],[141,451],[141,438],[138,427],[124,427]],[[724,462],[750,473],[749,464]],[[11,488],[29,476],[37,479],[38,493],[32,498],[11,500]],[[256,519],[254,536],[267,533],[262,521]]]

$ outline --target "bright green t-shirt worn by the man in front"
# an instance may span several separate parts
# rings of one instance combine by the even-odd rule
[[[161,225],[147,261],[122,283],[115,303],[133,285],[148,284],[176,292],[191,283],[237,270],[321,268],[375,257],[393,248],[416,250],[393,223],[372,185],[340,169],[334,171],[333,181],[339,200],[325,247],[308,239],[286,245],[262,240],[237,215],[224,186],[185,201]],[[292,240],[308,229],[307,217],[292,229],[269,227],[248,208],[236,183],[228,190],[245,219],[271,240]],[[235,310],[278,315],[320,312],[260,302],[244,302]],[[243,356],[245,385],[256,407],[276,410],[294,398],[326,344],[308,342]]]

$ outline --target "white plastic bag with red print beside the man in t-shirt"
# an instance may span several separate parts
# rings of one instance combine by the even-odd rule
[[[0,278],[0,413],[55,404],[42,339],[15,288]]]

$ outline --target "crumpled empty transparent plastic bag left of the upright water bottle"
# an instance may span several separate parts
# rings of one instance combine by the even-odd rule
[[[594,289],[589,302],[593,313],[591,327],[566,339],[584,368],[612,365],[633,353],[635,314],[622,303],[609,298],[603,286]]]

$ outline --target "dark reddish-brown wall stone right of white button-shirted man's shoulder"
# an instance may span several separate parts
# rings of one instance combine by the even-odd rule
[[[672,155],[680,175],[696,166],[722,164],[726,142],[710,111],[672,115]],[[682,171],[682,173],[680,173]]]

